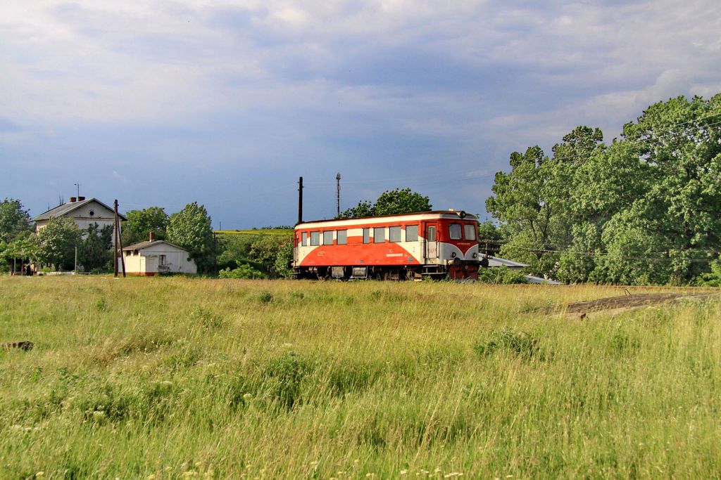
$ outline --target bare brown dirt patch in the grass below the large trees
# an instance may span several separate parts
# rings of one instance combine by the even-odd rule
[[[586,314],[594,312],[602,312],[613,310],[614,313],[624,312],[629,309],[637,309],[642,307],[650,307],[651,305],[662,304],[664,302],[673,302],[681,299],[702,299],[708,296],[717,296],[716,292],[676,292],[676,293],[656,293],[656,294],[631,294],[621,296],[611,296],[605,299],[588,300],[586,302],[576,302],[568,304],[564,311],[572,317],[585,317]],[[559,312],[557,307],[544,309],[544,313]]]

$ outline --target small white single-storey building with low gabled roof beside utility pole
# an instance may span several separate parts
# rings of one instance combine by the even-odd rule
[[[154,276],[159,273],[198,273],[187,250],[164,240],[146,240],[123,248],[125,273]]]

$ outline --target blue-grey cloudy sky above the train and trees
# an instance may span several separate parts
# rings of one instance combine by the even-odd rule
[[[490,218],[508,156],[721,92],[721,4],[0,2],[0,199],[293,225],[410,187]]]

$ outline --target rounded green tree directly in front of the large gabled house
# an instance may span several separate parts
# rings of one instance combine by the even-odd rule
[[[37,257],[40,263],[52,264],[56,271],[72,270],[75,249],[81,245],[82,232],[73,219],[58,217],[37,234]]]

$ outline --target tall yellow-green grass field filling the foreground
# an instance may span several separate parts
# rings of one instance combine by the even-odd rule
[[[0,478],[719,478],[721,303],[619,294],[5,277]]]

